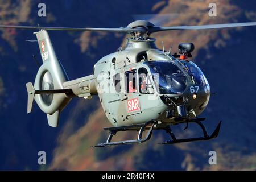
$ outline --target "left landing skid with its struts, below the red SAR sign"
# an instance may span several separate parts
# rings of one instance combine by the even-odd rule
[[[147,140],[149,140],[151,138],[153,127],[154,127],[154,121],[147,122],[147,123],[144,123],[144,124],[139,124],[139,125],[107,127],[107,128],[104,128],[104,130],[109,131],[109,137],[106,140],[106,142],[105,143],[99,143],[96,146],[92,146],[92,147],[108,147],[108,146],[116,146],[116,145],[119,145],[119,144],[143,143],[143,142],[146,142]],[[120,142],[111,142],[112,137],[115,134],[117,134],[118,131],[129,131],[129,130],[139,131],[137,139],[125,140],[125,141],[120,141]],[[143,134],[144,130],[148,130],[148,131],[147,131],[146,136],[144,138],[142,138],[142,134]]]

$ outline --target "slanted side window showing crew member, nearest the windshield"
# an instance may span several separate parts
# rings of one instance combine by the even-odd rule
[[[146,68],[139,68],[139,93],[154,94],[154,88]]]

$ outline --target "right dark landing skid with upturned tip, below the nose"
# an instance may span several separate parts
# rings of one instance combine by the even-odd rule
[[[201,129],[203,130],[204,133],[204,137],[196,137],[196,138],[184,138],[184,139],[177,139],[174,135],[174,133],[172,133],[171,127],[170,125],[165,127],[163,130],[165,130],[168,134],[170,134],[172,140],[168,140],[166,142],[160,143],[160,144],[175,144],[175,143],[183,143],[183,142],[193,142],[193,141],[200,141],[200,140],[210,140],[213,138],[216,138],[218,136],[218,132],[220,131],[220,127],[221,127],[221,121],[218,123],[216,129],[213,131],[212,135],[208,135],[207,131],[203,125],[203,123],[201,123],[201,121],[204,119],[192,119],[191,122],[195,122],[197,123],[197,125],[199,125],[201,127]]]

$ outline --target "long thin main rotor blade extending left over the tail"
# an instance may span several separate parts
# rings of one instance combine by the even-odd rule
[[[37,27],[37,26],[15,26],[15,25],[0,25],[0,28],[19,28],[19,29],[38,29],[38,30],[64,30],[64,31],[106,31],[106,32],[134,32],[134,31],[146,31],[144,28],[72,28],[72,27]]]

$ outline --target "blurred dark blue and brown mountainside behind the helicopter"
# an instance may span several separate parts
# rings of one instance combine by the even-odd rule
[[[46,3],[47,16],[38,16],[38,4]],[[217,16],[208,15],[209,3],[217,4]],[[253,0],[190,1],[0,1],[0,24],[56,27],[125,27],[136,18],[160,14],[162,26],[200,25],[256,21]],[[172,16],[169,14],[172,14]],[[173,16],[175,15],[175,16]],[[159,24],[158,24],[159,25]],[[256,169],[256,112],[254,57],[256,27],[221,30],[166,31],[152,35],[158,47],[177,52],[180,42],[193,42],[193,60],[207,77],[212,92],[205,126],[209,133],[222,120],[218,138],[162,146],[168,135],[154,131],[149,142],[110,148],[90,148],[102,142],[110,126],[98,97],[73,99],[63,110],[60,126],[48,126],[46,114],[34,105],[26,114],[26,82],[34,82],[41,62],[32,30],[0,30],[0,169],[68,170],[226,170]],[[49,31],[57,56],[69,78],[92,73],[101,57],[117,51],[126,35],[98,32]],[[179,137],[197,135],[189,125],[175,126]],[[120,139],[131,137],[119,135]],[[38,165],[38,151],[47,154],[47,165]],[[209,165],[208,152],[217,152],[217,165]]]

